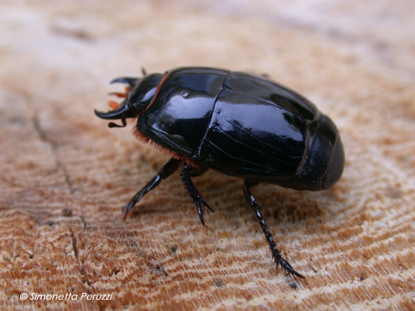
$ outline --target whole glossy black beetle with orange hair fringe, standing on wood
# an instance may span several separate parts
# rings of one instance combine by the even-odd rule
[[[304,278],[282,258],[250,188],[269,183],[296,190],[332,187],[344,168],[337,128],[308,99],[266,76],[208,67],[180,67],[141,78],[119,77],[127,84],[114,110],[94,111],[102,119],[137,118],[134,136],[170,159],[124,205],[128,211],[180,166],[180,179],[196,206],[213,212],[192,177],[208,169],[243,179],[243,193],[254,211],[276,267]]]

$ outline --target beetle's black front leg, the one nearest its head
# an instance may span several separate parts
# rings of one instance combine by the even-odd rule
[[[138,203],[139,200],[141,200],[143,195],[146,194],[148,191],[150,191],[150,190],[154,189],[155,187],[157,187],[162,179],[166,179],[173,172],[175,172],[178,169],[180,163],[181,163],[180,160],[176,160],[176,159],[173,159],[173,158],[169,159],[163,165],[163,167],[158,171],[157,175],[155,175],[155,177],[153,179],[151,179],[140,191],[138,191],[135,194],[135,196],[127,204],[125,204],[122,207],[122,210],[125,211],[124,212],[124,219],[127,216],[129,210],[136,203]]]

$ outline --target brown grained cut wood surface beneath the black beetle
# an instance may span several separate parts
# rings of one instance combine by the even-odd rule
[[[414,12],[409,0],[1,0],[1,309],[414,310]],[[196,179],[208,229],[178,173],[123,221],[167,158],[93,109],[122,91],[114,77],[183,65],[266,73],[336,123],[346,167],[332,189],[252,189],[304,280],[275,269],[238,179]]]

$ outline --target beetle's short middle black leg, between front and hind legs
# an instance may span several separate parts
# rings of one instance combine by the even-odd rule
[[[203,174],[205,171],[207,171],[207,169],[191,169],[187,166],[186,162],[183,162],[180,171],[180,179],[181,183],[184,185],[184,189],[186,189],[187,193],[189,194],[189,199],[192,199],[193,203],[196,205],[197,214],[199,215],[201,224],[204,227],[207,227],[204,223],[204,207],[207,207],[211,212],[213,212],[213,210],[206,203],[206,201],[194,185],[193,181],[191,180],[192,176],[199,176]]]

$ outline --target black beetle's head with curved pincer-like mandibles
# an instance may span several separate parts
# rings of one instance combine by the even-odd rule
[[[108,127],[124,127],[126,118],[138,117],[150,104],[162,76],[162,74],[153,73],[144,75],[142,78],[119,77],[113,79],[109,83],[129,85],[125,99],[112,111],[100,112],[94,110],[95,115],[107,120],[121,119],[122,125],[109,122]]]

